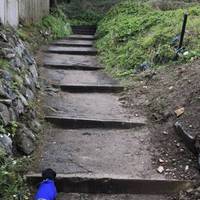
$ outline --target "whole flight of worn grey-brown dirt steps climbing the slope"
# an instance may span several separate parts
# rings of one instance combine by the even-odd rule
[[[45,52],[40,74],[47,84],[43,108],[50,124],[39,148],[41,156],[31,173],[49,167],[55,169],[61,174],[63,191],[70,187],[65,175],[71,175],[78,177],[76,183],[94,180],[92,188],[86,183],[84,188],[87,189],[81,188],[80,193],[100,191],[98,181],[102,178],[113,180],[103,193],[119,193],[120,190],[121,193],[130,193],[111,196],[63,194],[60,196],[63,200],[166,199],[164,195],[152,197],[146,193],[170,193],[185,183],[177,183],[170,189],[167,184],[173,186],[173,181],[165,181],[165,177],[152,166],[154,151],[149,141],[146,117],[130,115],[122,106],[119,92],[123,88],[101,71],[96,49],[92,47],[93,40],[93,35],[73,35],[54,42]],[[37,177],[30,175],[30,179],[34,176]],[[132,188],[130,192],[123,184],[114,186],[119,180],[132,181],[131,187],[128,186]],[[141,181],[138,183],[138,180]],[[163,184],[157,180],[162,180]],[[141,195],[135,194],[134,187],[139,188]]]

